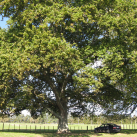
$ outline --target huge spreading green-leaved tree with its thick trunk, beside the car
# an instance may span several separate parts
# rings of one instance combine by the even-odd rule
[[[1,15],[10,17],[9,28],[0,30],[1,110],[29,109],[33,117],[49,112],[59,119],[58,131],[67,132],[69,110],[76,116],[87,113],[88,102],[105,101],[108,107],[131,90],[137,68],[134,1],[1,0],[0,5]]]

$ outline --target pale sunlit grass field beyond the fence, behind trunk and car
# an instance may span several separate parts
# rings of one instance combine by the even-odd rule
[[[70,130],[94,130],[99,125],[91,124],[73,124],[69,125]],[[0,123],[0,130],[57,130],[57,124],[30,124],[30,123]],[[121,125],[121,129],[137,129],[137,124]]]

